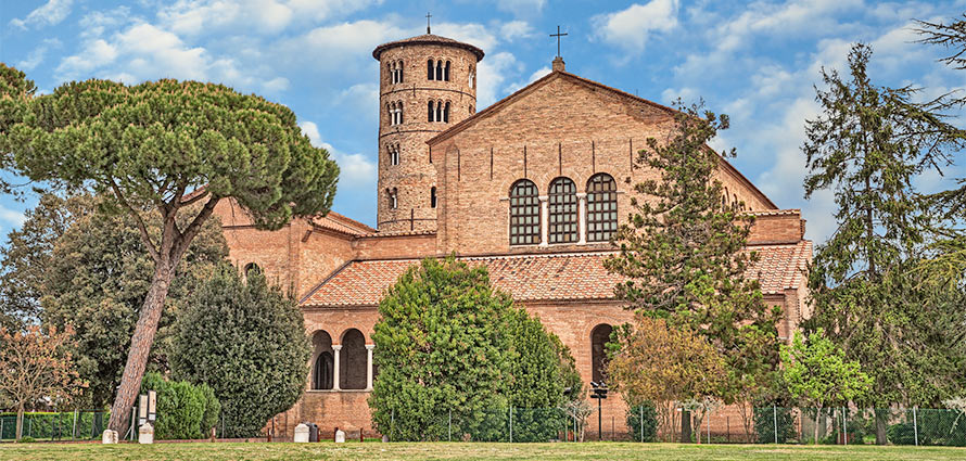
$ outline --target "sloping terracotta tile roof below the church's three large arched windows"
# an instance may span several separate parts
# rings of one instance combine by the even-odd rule
[[[781,294],[802,283],[812,242],[749,248],[759,261],[749,276],[762,282],[765,294]],[[470,266],[485,266],[490,279],[516,300],[609,299],[622,278],[608,273],[603,259],[613,253],[465,257]],[[374,306],[419,259],[351,261],[323,280],[302,299],[303,306]]]

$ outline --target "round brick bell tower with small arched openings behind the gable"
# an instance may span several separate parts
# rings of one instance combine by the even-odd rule
[[[436,170],[425,141],[476,112],[483,50],[429,34],[380,44],[380,231],[436,230]]]

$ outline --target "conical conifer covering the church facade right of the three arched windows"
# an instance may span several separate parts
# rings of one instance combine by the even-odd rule
[[[707,145],[727,129],[727,116],[701,105],[678,107],[672,137],[649,139],[636,158],[636,168],[660,176],[634,184],[628,222],[613,239],[620,254],[605,265],[627,279],[617,294],[630,308],[697,332],[725,357],[726,384],[717,397],[751,400],[778,361],[781,312],[763,303],[758,281],[745,278],[757,257],[745,252],[753,219],[740,212],[742,204],[725,204],[717,179],[722,157],[735,151]],[[689,437],[687,430],[682,437]]]

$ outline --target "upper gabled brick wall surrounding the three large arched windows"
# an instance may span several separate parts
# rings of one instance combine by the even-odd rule
[[[632,171],[632,155],[648,138],[665,139],[672,127],[663,110],[564,77],[550,78],[494,114],[481,114],[431,145],[441,196],[440,249],[510,252],[507,197],[521,178],[545,195],[552,179],[565,176],[580,193],[594,174],[607,172],[618,184],[618,216],[626,219],[632,184],[659,178],[651,169]],[[751,209],[770,207],[729,169],[721,175]]]

